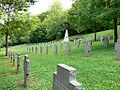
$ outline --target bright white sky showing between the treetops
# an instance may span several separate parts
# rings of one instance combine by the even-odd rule
[[[39,0],[35,5],[31,6],[29,12],[32,15],[40,14],[44,11],[47,11],[53,0]],[[72,0],[60,0],[64,9],[68,9],[72,6]]]

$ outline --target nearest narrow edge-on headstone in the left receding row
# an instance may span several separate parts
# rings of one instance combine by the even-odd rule
[[[30,74],[30,60],[29,56],[24,56],[24,87],[27,87],[29,84],[29,74]]]

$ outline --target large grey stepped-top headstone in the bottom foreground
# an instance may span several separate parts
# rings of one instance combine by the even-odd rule
[[[76,81],[76,69],[58,64],[53,74],[53,90],[82,90],[82,84]]]

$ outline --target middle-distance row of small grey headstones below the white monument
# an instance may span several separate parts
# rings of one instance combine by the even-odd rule
[[[50,49],[52,49],[52,44],[50,44]],[[62,49],[63,48],[63,44],[61,43],[60,44],[60,48]],[[42,55],[42,52],[43,52],[43,47],[42,46],[40,46],[40,48],[39,48],[39,50],[40,50],[40,55]],[[45,47],[45,51],[46,51],[46,54],[48,54],[49,53],[49,46],[48,45],[46,45],[46,47]],[[36,46],[36,47],[27,47],[27,52],[32,52],[32,53],[37,53],[38,52],[38,47]],[[70,45],[70,43],[66,43],[66,53],[67,53],[67,55],[70,55],[70,52],[71,52],[71,45]],[[55,54],[57,54],[58,53],[58,45],[57,44],[55,44],[54,45],[54,53]]]

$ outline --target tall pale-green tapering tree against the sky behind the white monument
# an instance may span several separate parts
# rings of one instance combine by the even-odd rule
[[[59,0],[54,0],[50,7],[49,14],[44,19],[43,24],[46,25],[47,39],[53,40],[59,38],[64,31],[63,23],[66,22],[66,13],[63,10]]]

